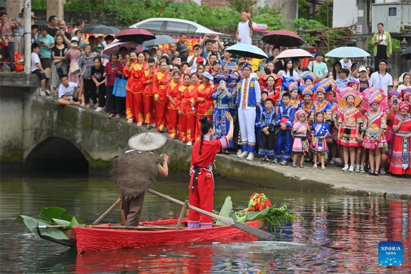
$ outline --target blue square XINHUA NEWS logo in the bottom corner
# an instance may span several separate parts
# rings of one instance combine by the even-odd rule
[[[378,244],[378,264],[381,266],[401,266],[402,243],[380,242]]]

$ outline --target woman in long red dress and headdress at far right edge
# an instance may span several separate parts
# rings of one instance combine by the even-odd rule
[[[389,172],[404,178],[411,178],[411,118],[409,117],[411,105],[408,102],[400,103],[400,114],[394,119],[393,131],[395,132],[393,155]]]

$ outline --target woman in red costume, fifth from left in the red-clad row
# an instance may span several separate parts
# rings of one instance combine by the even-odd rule
[[[178,88],[181,86],[180,72],[173,72],[173,79],[167,85],[167,98],[170,102],[167,106],[167,129],[169,130],[170,139],[177,137],[178,124],[178,106],[181,105],[180,92]]]

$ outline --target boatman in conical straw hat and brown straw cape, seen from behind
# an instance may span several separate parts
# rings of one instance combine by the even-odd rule
[[[145,191],[156,181],[158,173],[162,177],[169,174],[169,156],[153,153],[165,141],[166,138],[159,133],[139,133],[128,140],[128,146],[133,150],[112,161],[111,177],[121,193],[125,226],[138,226]]]

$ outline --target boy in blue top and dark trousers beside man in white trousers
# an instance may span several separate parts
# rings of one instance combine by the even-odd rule
[[[274,128],[275,128],[275,112],[273,108],[273,100],[267,98],[265,100],[265,111],[261,113],[261,133],[258,155],[259,162],[263,163],[268,159],[268,163],[274,160]]]

